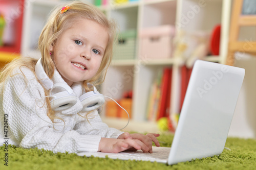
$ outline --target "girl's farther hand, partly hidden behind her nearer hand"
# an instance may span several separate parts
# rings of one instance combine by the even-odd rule
[[[157,140],[157,137],[159,137],[159,134],[156,133],[149,133],[146,135],[143,134],[139,134],[139,133],[133,133],[130,134],[128,132],[125,132],[123,134],[121,134],[118,139],[138,139],[141,142],[143,142],[148,148],[150,148],[150,150],[148,151],[148,153],[153,153],[152,150],[152,141],[156,144],[157,147],[160,147],[159,141]],[[131,148],[129,150],[132,151],[136,151],[136,148]]]

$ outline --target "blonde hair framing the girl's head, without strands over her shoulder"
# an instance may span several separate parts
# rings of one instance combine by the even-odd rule
[[[83,83],[84,88],[90,90],[87,83],[98,85],[104,81],[106,69],[109,67],[112,60],[116,25],[113,21],[108,20],[102,11],[94,6],[78,1],[67,4],[67,6],[69,6],[70,9],[65,13],[60,13],[61,8],[55,8],[41,32],[38,45],[41,56],[44,56],[42,58],[42,66],[48,77],[51,79],[54,74],[54,63],[49,54],[50,46],[54,45],[61,34],[71,28],[77,19],[93,20],[106,29],[109,35],[109,41],[98,72],[92,79],[86,80]]]

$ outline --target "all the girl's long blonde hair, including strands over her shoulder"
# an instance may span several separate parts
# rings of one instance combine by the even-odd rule
[[[113,44],[116,39],[116,24],[114,21],[108,20],[102,11],[92,5],[72,1],[66,6],[69,6],[70,8],[65,13],[60,13],[63,6],[56,7],[51,12],[49,19],[39,36],[38,48],[41,52],[42,66],[44,67],[47,76],[51,79],[54,75],[55,67],[52,57],[50,56],[50,47],[51,45],[55,45],[56,41],[63,34],[63,32],[70,29],[78,19],[89,19],[99,23],[100,26],[106,29],[106,32],[109,35],[109,40],[96,75],[90,80],[85,80],[83,82],[84,89],[86,91],[90,91],[91,89],[87,86],[87,83],[99,85],[105,79],[106,70],[108,69],[112,60]],[[12,70],[17,66],[27,66],[35,74],[35,63],[35,59],[26,59],[25,57],[9,63],[4,67],[3,72],[0,74],[0,83],[4,82],[7,76],[11,75]],[[44,90],[46,96],[49,95],[49,91],[45,88]],[[55,112],[51,109],[49,98],[46,99],[46,104],[48,107],[47,115],[53,122],[54,118],[57,117],[55,116]]]

